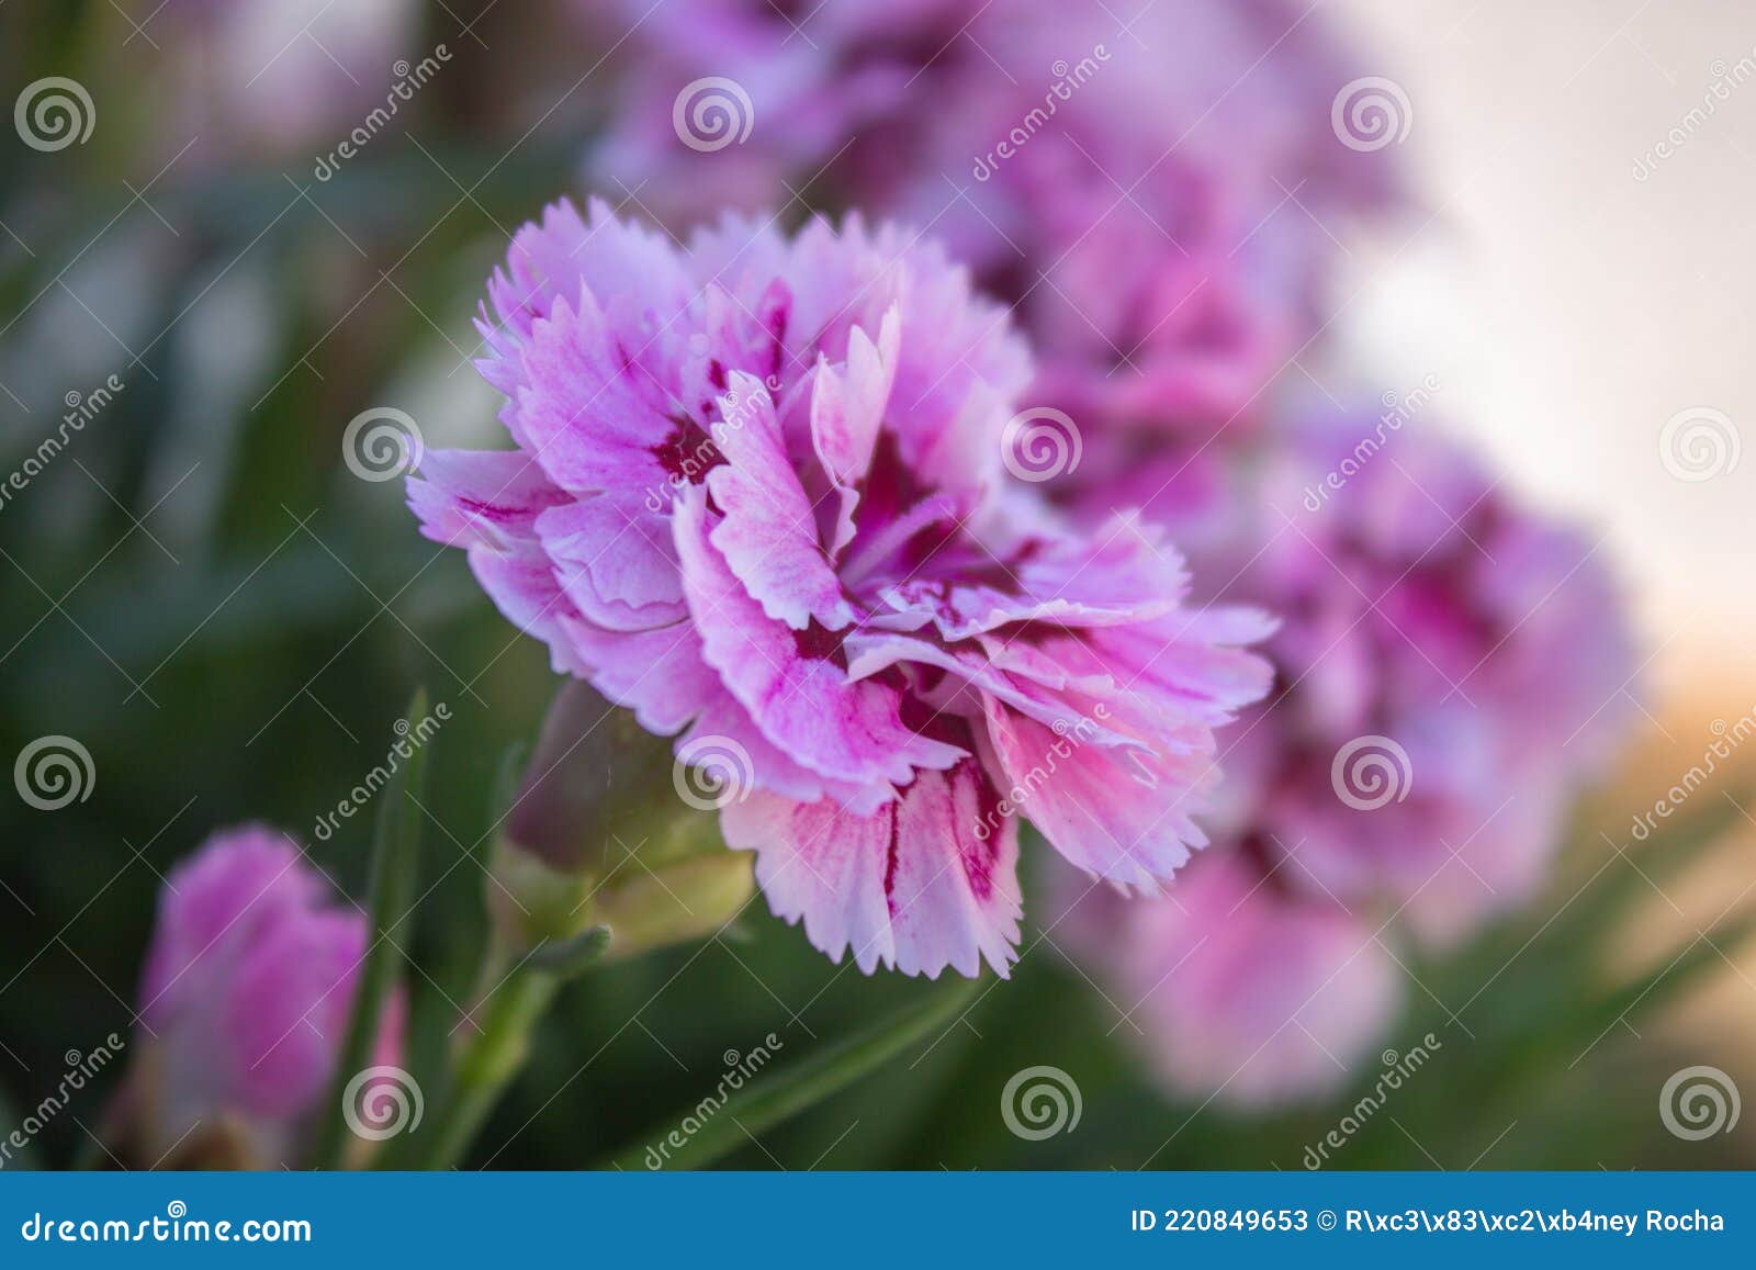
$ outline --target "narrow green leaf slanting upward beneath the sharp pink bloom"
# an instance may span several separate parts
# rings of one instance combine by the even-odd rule
[[[934,987],[874,1028],[836,1042],[817,1054],[781,1068],[730,1094],[720,1108],[681,1145],[671,1149],[667,1168],[701,1168],[743,1145],[752,1137],[815,1107],[913,1045],[932,1029],[966,1010],[980,980],[955,978]],[[699,1117],[699,1103],[655,1124],[639,1142],[608,1161],[609,1168],[646,1168],[646,1144],[662,1142],[685,1117]]]

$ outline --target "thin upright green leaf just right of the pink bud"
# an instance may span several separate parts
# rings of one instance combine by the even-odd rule
[[[406,718],[413,727],[427,717],[427,689],[416,689]],[[378,1026],[385,1003],[402,970],[399,926],[414,903],[420,873],[421,792],[427,778],[427,752],[432,743],[416,745],[378,794],[378,827],[372,838],[372,880],[367,889],[371,945],[360,966],[348,1033],[335,1061],[335,1077],[321,1103],[313,1161],[318,1168],[342,1168],[348,1154],[348,1126],[342,1117],[348,1082],[372,1061]],[[407,940],[409,931],[400,931]]]

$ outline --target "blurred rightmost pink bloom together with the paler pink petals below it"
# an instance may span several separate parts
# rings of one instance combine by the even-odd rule
[[[1459,446],[1400,413],[1273,441],[1236,520],[1192,546],[1203,580],[1284,615],[1277,685],[1229,734],[1215,845],[1129,908],[1129,938],[1078,882],[1068,919],[1145,996],[1173,1087],[1241,1101],[1347,1075],[1401,998],[1400,940],[1445,947],[1533,896],[1633,676],[1594,545]]]

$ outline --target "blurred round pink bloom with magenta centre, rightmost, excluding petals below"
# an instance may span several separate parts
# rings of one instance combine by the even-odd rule
[[[1431,942],[1531,899],[1633,701],[1596,543],[1368,415],[1287,429],[1240,506],[1205,576],[1287,617],[1224,819],[1308,894],[1389,898]]]

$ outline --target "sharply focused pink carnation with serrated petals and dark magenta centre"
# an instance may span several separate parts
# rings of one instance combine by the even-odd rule
[[[516,450],[430,451],[409,501],[500,611],[709,769],[776,913],[862,970],[1017,957],[1015,812],[1154,889],[1268,622],[1191,611],[1129,518],[1006,480],[1031,376],[1001,309],[857,218],[688,249],[567,204],[490,281]]]

